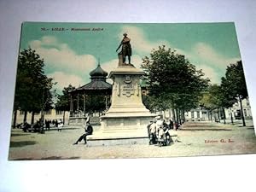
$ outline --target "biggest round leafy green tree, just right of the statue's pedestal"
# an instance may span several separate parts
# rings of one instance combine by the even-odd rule
[[[196,108],[208,86],[209,79],[203,79],[201,70],[164,45],[145,56],[142,67],[149,91],[144,103],[151,111],[176,108],[184,112]]]

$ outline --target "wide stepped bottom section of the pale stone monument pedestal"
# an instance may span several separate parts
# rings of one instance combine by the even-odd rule
[[[154,115],[136,116],[132,113],[106,115],[102,117],[102,126],[99,131],[88,136],[90,146],[108,146],[124,144],[148,143],[147,125]]]

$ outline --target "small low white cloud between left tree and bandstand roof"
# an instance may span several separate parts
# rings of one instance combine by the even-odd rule
[[[67,87],[69,84],[72,84],[76,88],[85,84],[84,80],[79,76],[59,71],[48,74],[48,77],[53,78],[55,82],[58,82],[55,84],[55,89],[59,91],[63,90],[63,88]]]

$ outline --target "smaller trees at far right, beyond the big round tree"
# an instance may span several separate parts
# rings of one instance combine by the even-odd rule
[[[207,108],[211,113],[217,110],[218,119],[219,110],[224,108],[231,108],[234,103],[239,102],[241,107],[241,119],[243,126],[246,125],[243,109],[241,105],[242,99],[248,96],[246,80],[243,73],[241,61],[235,64],[230,64],[227,67],[225,77],[221,79],[221,84],[213,84],[208,87],[204,96],[201,99],[201,107]],[[225,124],[224,113],[224,124]],[[231,122],[233,123],[233,116],[231,113]]]

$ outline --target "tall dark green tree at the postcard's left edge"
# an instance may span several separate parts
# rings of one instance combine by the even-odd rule
[[[18,58],[14,110],[34,113],[49,109],[52,105],[52,80],[44,74],[44,59],[35,50],[23,49]],[[15,122],[14,122],[15,125]]]

